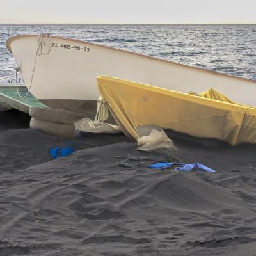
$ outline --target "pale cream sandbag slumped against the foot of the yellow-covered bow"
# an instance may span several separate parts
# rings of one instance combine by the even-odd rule
[[[139,138],[137,144],[138,150],[148,152],[152,150],[166,149],[173,156],[177,154],[177,148],[175,147],[173,141],[168,138],[168,136],[162,129],[161,131],[152,129],[149,135]]]

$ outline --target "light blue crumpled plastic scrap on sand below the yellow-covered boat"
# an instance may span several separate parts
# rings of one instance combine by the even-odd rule
[[[212,172],[214,173],[215,170],[204,166],[203,164],[200,163],[195,163],[195,164],[184,164],[184,163],[179,163],[179,162],[173,162],[173,163],[157,163],[157,164],[152,164],[148,166],[148,168],[151,169],[166,169],[166,168],[172,168],[173,170],[176,171],[185,171],[185,172]]]

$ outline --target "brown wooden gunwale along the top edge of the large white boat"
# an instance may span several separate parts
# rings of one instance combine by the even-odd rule
[[[10,44],[11,44],[11,42],[13,40],[16,40],[16,39],[18,39],[20,37],[29,37],[29,36],[36,36],[36,37],[38,37],[38,35],[35,35],[35,34],[25,34],[25,35],[11,36],[10,38],[8,38],[6,40],[6,47],[7,47],[8,51],[10,53],[12,53],[12,49],[10,47]],[[249,78],[245,78],[245,77],[239,77],[239,76],[233,76],[233,75],[230,75],[230,74],[220,73],[220,72],[217,72],[217,71],[214,71],[214,70],[207,70],[205,68],[193,67],[193,66],[189,66],[189,65],[186,65],[186,64],[182,64],[182,63],[177,63],[177,62],[170,61],[170,60],[164,60],[164,59],[156,58],[156,57],[153,57],[153,56],[144,55],[144,54],[141,54],[141,53],[138,53],[138,52],[127,51],[127,50],[124,50],[124,49],[117,49],[117,48],[114,48],[114,47],[111,47],[111,46],[108,46],[108,45],[95,44],[95,43],[92,43],[92,42],[78,40],[78,39],[74,39],[74,38],[67,38],[67,37],[63,37],[63,36],[51,35],[51,38],[57,38],[57,39],[62,39],[62,40],[70,40],[72,42],[79,42],[79,43],[84,43],[84,44],[89,44],[89,45],[95,45],[95,46],[98,46],[98,47],[104,47],[106,49],[111,49],[111,50],[115,50],[115,51],[120,51],[120,52],[129,53],[129,54],[134,54],[136,56],[141,56],[141,57],[144,57],[144,58],[148,58],[150,60],[164,61],[166,63],[172,63],[173,65],[178,65],[178,66],[185,67],[185,68],[191,68],[191,69],[195,69],[195,70],[209,72],[209,73],[214,74],[214,75],[227,76],[227,77],[234,78],[234,79],[241,79],[243,81],[250,81],[250,82],[253,82],[253,83],[256,84],[256,80],[253,80],[253,79],[249,79]]]

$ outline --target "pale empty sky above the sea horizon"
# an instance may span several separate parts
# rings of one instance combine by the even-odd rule
[[[0,0],[0,24],[256,24],[256,0]]]

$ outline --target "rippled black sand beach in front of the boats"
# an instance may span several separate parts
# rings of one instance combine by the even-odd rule
[[[150,170],[172,158],[122,134],[79,134],[52,160],[67,139],[17,114],[0,113],[0,255],[256,255],[254,145],[168,132],[216,173]]]

